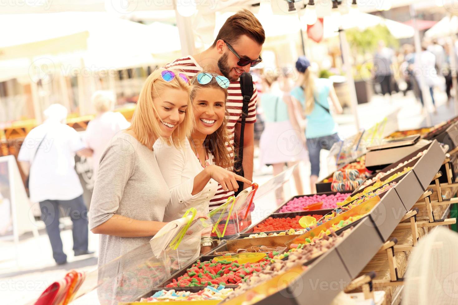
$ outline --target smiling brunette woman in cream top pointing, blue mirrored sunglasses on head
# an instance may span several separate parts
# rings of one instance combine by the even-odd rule
[[[233,166],[229,143],[226,100],[229,80],[207,72],[197,74],[191,91],[195,127],[182,148],[154,144],[159,169],[170,188],[170,202],[164,221],[177,219],[193,207],[197,213],[208,214],[210,200],[218,190],[237,191],[237,181],[248,179],[225,168]],[[201,253],[211,250],[209,232],[202,233]]]

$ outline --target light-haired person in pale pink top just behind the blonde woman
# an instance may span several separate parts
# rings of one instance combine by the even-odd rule
[[[127,129],[131,124],[119,112],[113,112],[115,95],[112,91],[99,90],[91,98],[96,117],[87,124],[84,133],[86,147],[93,150],[92,180],[95,182],[100,157],[110,140],[120,130]]]

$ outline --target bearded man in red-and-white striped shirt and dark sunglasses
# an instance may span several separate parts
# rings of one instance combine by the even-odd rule
[[[228,132],[230,145],[228,153],[234,158],[234,137],[240,139],[240,122],[242,116],[243,96],[240,89],[240,75],[249,72],[250,67],[262,61],[260,56],[265,33],[261,23],[247,10],[230,16],[218,32],[213,45],[200,54],[181,57],[167,64],[165,68],[180,69],[190,78],[202,70],[224,75],[230,81],[228,100],[226,102]],[[253,178],[254,158],[254,124],[256,122],[257,90],[253,83],[253,95],[248,104],[248,116],[245,118],[243,145],[243,171],[246,179]],[[203,145],[203,143],[195,143]],[[229,170],[233,170],[232,168]],[[244,188],[249,185],[244,185]],[[210,209],[215,209],[225,203],[227,198],[234,195],[234,190],[223,190],[221,186],[210,201]]]

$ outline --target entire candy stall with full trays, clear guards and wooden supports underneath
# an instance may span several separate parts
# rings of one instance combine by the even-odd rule
[[[455,123],[441,125],[441,133],[452,135]],[[341,294],[391,304],[419,239],[456,224],[448,216],[458,203],[454,148],[435,138],[409,151],[376,171],[361,155],[316,194],[272,200],[291,183],[294,166],[229,198],[209,219],[195,219],[190,209],[149,243],[40,304],[59,304],[62,294],[75,304],[89,295],[119,305],[331,304]],[[211,232],[213,249],[198,255],[202,232]]]

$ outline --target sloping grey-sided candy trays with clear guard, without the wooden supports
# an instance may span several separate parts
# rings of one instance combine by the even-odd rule
[[[399,222],[431,188],[446,155],[433,140],[397,160],[349,195],[285,196],[291,199],[256,204],[253,211],[254,202],[275,198],[289,183],[292,170],[287,170],[257,193],[251,187],[228,200],[208,221],[188,215],[173,232],[99,268],[91,276],[97,280],[84,283],[76,298],[97,288],[103,304],[329,304],[358,274],[380,270],[369,270],[371,260],[382,260],[381,247],[400,235]],[[325,202],[336,207],[314,209]],[[445,206],[435,206],[434,213]],[[305,216],[315,217],[304,226]],[[227,235],[231,224],[234,230]],[[195,240],[209,230],[221,242],[198,255]]]

